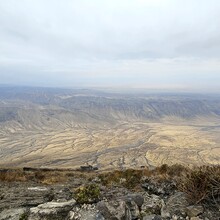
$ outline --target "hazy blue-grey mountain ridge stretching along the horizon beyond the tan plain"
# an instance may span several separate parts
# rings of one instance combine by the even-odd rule
[[[129,96],[129,94],[85,89],[1,87],[0,100],[0,121],[19,119],[19,111],[28,111],[31,106],[35,110],[45,112],[48,117],[66,112],[73,114],[73,117],[86,114],[92,121],[93,119],[160,120],[166,116],[183,119],[220,116],[220,95],[132,94]],[[43,106],[43,109],[36,108],[36,105]]]

